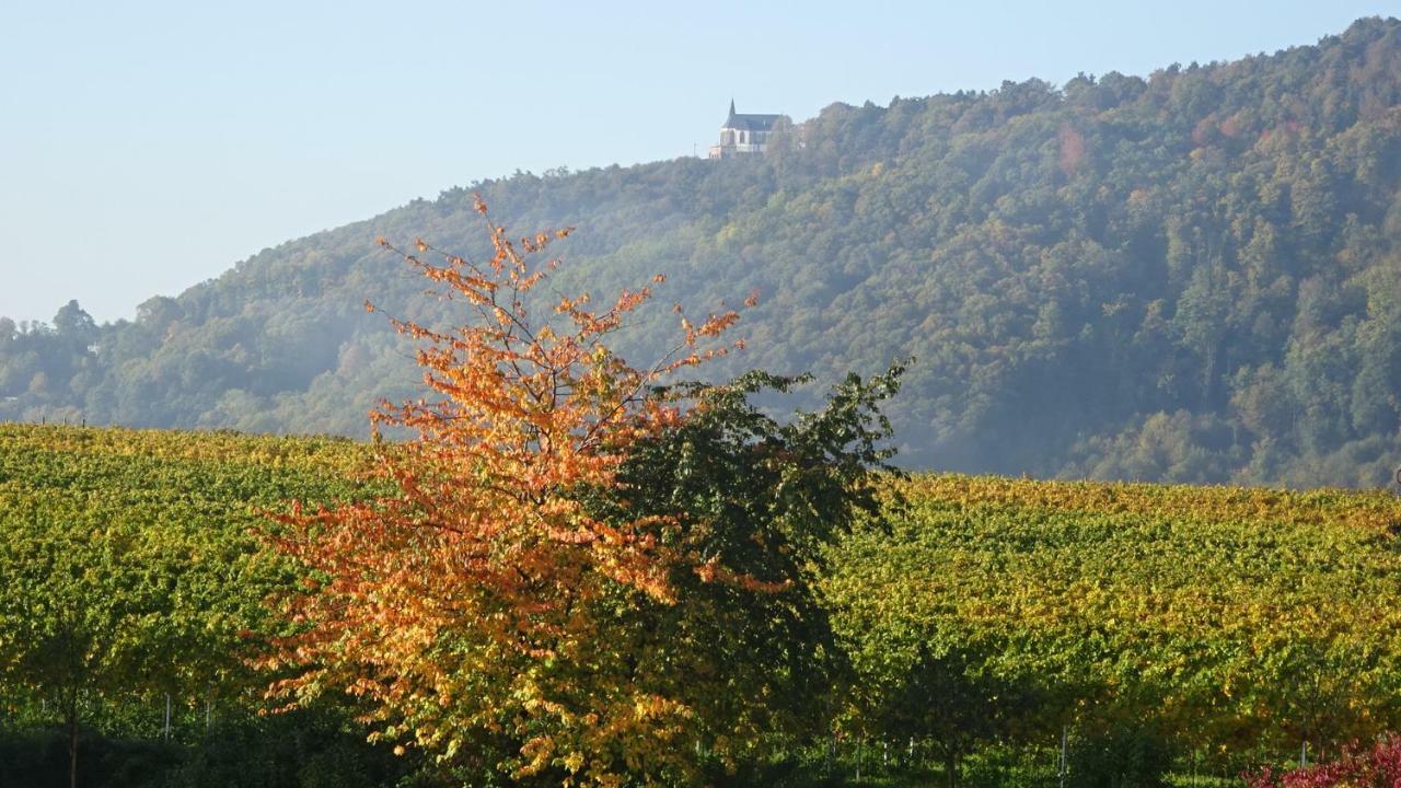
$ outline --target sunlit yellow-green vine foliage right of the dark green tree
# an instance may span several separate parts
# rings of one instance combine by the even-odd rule
[[[1132,721],[1240,752],[1401,725],[1390,494],[961,475],[899,488],[894,533],[846,541],[827,580],[867,724],[934,662],[1023,687],[1048,731]]]

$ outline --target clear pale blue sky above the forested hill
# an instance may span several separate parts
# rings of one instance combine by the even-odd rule
[[[1146,74],[1401,1],[0,0],[0,314],[98,320],[514,170],[691,154],[741,112]]]

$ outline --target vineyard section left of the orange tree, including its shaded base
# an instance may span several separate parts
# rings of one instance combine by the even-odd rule
[[[303,740],[279,743],[290,721],[254,716],[266,677],[247,658],[251,634],[275,627],[265,597],[293,579],[259,550],[263,512],[356,495],[366,454],[331,439],[0,426],[0,785],[60,784],[70,733],[85,785],[179,768],[277,785],[314,746],[360,746],[336,714],[300,715]]]

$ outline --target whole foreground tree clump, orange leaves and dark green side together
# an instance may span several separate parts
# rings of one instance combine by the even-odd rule
[[[804,695],[832,652],[807,578],[874,510],[874,401],[898,370],[787,423],[750,395],[792,379],[667,386],[743,346],[724,339],[737,311],[677,307],[672,351],[630,366],[608,341],[650,287],[545,300],[560,262],[541,258],[569,231],[513,240],[475,206],[486,261],[380,241],[468,317],[391,318],[437,394],[371,414],[377,436],[416,435],[377,439],[395,494],[279,517],[305,580],[272,694],[356,695],[374,738],[465,782],[696,782],[820,725]]]

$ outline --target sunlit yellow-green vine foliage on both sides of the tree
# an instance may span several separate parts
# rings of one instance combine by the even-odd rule
[[[370,461],[333,439],[0,425],[0,704],[74,681],[189,705],[258,686],[241,631],[269,625],[263,597],[291,575],[251,529],[293,498],[363,494]],[[958,718],[902,732],[891,721],[918,715],[887,712],[989,687],[1034,702],[988,707],[1016,719],[979,736],[1132,722],[1278,752],[1401,726],[1391,495],[958,475],[899,488],[891,531],[842,543],[824,580],[867,729],[943,735]],[[57,670],[73,635],[81,659]],[[922,662],[962,673],[930,697],[912,679]]]

